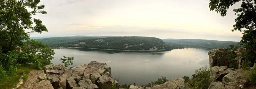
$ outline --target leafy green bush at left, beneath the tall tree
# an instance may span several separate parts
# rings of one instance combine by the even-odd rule
[[[42,69],[45,65],[51,64],[55,54],[51,48],[35,39],[27,40],[21,47],[22,52],[19,63],[35,64],[37,69]]]

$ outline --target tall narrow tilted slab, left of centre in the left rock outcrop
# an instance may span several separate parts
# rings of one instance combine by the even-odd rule
[[[59,78],[60,79],[60,85],[66,87],[66,80],[71,77],[71,74],[72,74],[71,69],[65,70],[65,72]]]

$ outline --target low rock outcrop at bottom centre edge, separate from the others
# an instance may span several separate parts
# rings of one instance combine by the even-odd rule
[[[176,78],[172,81],[167,81],[161,85],[152,85],[151,87],[141,87],[131,85],[129,89],[189,89],[188,85],[185,83],[185,79]]]

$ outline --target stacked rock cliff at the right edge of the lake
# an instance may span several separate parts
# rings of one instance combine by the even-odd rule
[[[236,55],[234,66],[228,68],[227,49],[219,48],[208,51],[212,83],[208,89],[240,89],[247,83],[244,79],[245,70],[241,68],[241,61],[245,48],[239,48],[231,53]]]

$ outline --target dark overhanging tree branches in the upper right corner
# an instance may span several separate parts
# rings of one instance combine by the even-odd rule
[[[234,9],[235,24],[232,31],[244,31],[243,37],[240,41],[241,45],[245,45],[247,49],[256,49],[256,0],[210,0],[210,10],[220,13],[224,17],[227,14],[229,6],[242,1],[241,7]],[[255,53],[254,53],[255,54]]]

